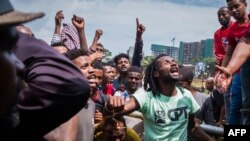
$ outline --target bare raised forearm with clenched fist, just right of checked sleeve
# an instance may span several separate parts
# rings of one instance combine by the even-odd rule
[[[78,17],[76,15],[73,15],[72,17],[72,24],[76,27],[79,40],[80,40],[80,47],[86,51],[88,51],[88,44],[87,39],[85,36],[85,21],[84,18]]]

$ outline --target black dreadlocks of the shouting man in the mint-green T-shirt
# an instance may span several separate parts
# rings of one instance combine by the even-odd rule
[[[157,81],[157,78],[154,77],[154,72],[158,70],[158,59],[168,56],[166,54],[160,54],[158,55],[147,67],[144,77],[144,89],[146,91],[152,91],[153,96],[159,96],[160,95],[160,85]]]

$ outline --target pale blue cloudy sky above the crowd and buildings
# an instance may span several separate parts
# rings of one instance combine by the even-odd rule
[[[95,30],[102,29],[100,42],[112,56],[126,53],[135,44],[136,18],[146,27],[143,34],[145,55],[151,55],[151,44],[179,46],[180,41],[195,42],[213,38],[220,27],[217,10],[226,0],[10,0],[23,12],[44,12],[30,27],[37,38],[48,44],[54,32],[54,17],[63,10],[64,23],[73,14],[85,19],[85,33],[91,45]],[[249,2],[250,0],[247,0]],[[171,40],[175,38],[175,42]]]

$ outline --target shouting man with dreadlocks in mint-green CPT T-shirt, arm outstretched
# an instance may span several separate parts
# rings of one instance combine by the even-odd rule
[[[199,105],[192,94],[176,86],[179,68],[175,60],[159,55],[145,76],[146,91],[135,93],[126,103],[124,98],[111,97],[106,104],[107,114],[116,116],[139,110],[144,117],[145,141],[185,141],[187,131],[198,140],[212,140],[195,122]]]

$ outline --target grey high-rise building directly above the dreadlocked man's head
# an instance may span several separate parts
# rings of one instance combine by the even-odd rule
[[[152,51],[152,55],[155,57],[158,56],[159,54],[167,54],[171,56],[173,59],[178,60],[178,54],[179,54],[178,47],[152,44],[151,51]]]

